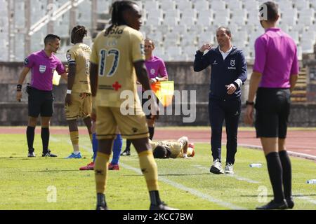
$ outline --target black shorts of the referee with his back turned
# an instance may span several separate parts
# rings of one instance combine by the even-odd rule
[[[259,87],[255,104],[257,138],[285,139],[290,105],[289,89]]]

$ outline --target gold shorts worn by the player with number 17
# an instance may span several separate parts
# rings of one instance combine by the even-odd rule
[[[119,107],[96,107],[97,139],[114,139],[117,127],[124,139],[142,139],[149,137],[146,116],[141,107],[136,115],[122,115]]]

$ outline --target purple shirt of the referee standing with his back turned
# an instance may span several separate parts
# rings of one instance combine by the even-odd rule
[[[262,73],[259,87],[289,88],[289,78],[298,74],[296,44],[279,28],[265,30],[255,42],[254,71]]]

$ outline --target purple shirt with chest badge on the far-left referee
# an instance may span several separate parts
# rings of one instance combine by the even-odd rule
[[[60,59],[55,55],[48,57],[44,50],[32,53],[24,60],[24,65],[32,69],[31,86],[37,90],[53,90],[53,73],[65,73]]]

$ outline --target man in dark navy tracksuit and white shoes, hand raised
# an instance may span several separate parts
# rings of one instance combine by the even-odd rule
[[[221,165],[221,138],[225,119],[227,134],[227,156],[225,173],[233,174],[237,152],[237,130],[241,111],[240,87],[247,78],[246,59],[242,50],[232,46],[232,34],[227,27],[216,30],[218,47],[205,43],[195,55],[195,71],[211,65],[209,92],[209,120],[211,123],[211,151],[213,165],[210,172],[223,174]],[[209,50],[203,55],[205,50]]]

